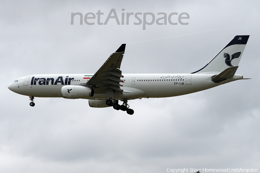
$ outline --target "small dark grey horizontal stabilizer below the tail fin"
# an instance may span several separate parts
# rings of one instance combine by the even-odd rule
[[[229,67],[229,68],[225,69],[223,72],[221,72],[220,74],[213,75],[211,77],[211,80],[215,83],[219,83],[219,82],[226,80],[227,78],[232,78],[235,75],[237,68],[238,68],[238,66]]]

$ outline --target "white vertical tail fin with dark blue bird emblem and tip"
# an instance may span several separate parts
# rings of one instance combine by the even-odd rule
[[[238,66],[249,35],[237,35],[207,65],[193,73],[221,73]]]

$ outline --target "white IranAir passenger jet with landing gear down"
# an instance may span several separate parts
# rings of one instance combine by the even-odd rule
[[[90,107],[112,107],[132,115],[128,100],[185,95],[235,80],[235,74],[249,35],[235,36],[209,63],[189,74],[122,74],[121,62],[126,44],[110,55],[95,74],[38,74],[16,79],[11,91],[34,97],[88,99]],[[122,105],[118,101],[123,101]]]

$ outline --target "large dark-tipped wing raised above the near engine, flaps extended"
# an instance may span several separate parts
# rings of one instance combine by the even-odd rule
[[[90,88],[99,88],[103,86],[102,90],[111,88],[114,91],[122,93],[120,89],[120,78],[122,71],[120,70],[121,62],[125,53],[125,45],[122,44],[115,53],[111,54],[99,70],[86,82],[85,86]],[[101,91],[100,91],[101,92]]]

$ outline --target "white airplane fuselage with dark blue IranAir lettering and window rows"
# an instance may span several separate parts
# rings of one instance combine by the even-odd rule
[[[190,94],[221,84],[242,79],[234,75],[220,83],[211,81],[214,74],[123,74],[122,93],[115,92],[114,99],[138,99],[173,97]],[[87,77],[86,77],[87,76]],[[8,88],[15,93],[33,97],[62,97],[62,86],[83,84],[93,74],[40,74],[17,79]],[[102,87],[100,87],[102,88]],[[108,99],[105,91],[94,88],[93,97],[85,99]]]

